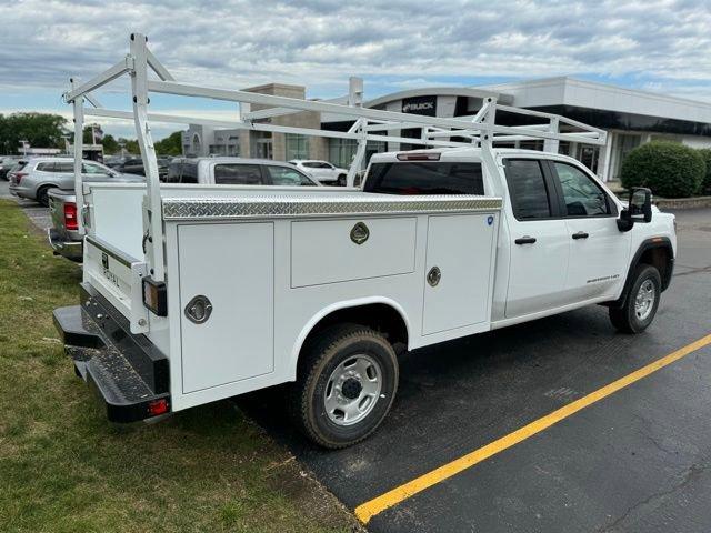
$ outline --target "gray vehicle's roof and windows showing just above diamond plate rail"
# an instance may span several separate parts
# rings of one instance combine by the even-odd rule
[[[168,169],[168,183],[217,185],[314,187],[319,183],[292,164],[271,159],[177,158]]]

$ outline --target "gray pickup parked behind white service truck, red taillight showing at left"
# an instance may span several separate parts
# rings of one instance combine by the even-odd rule
[[[216,164],[208,164],[216,163]],[[180,158],[170,167],[171,183],[217,183],[246,185],[316,185],[287,163],[239,158]],[[264,182],[263,177],[268,177]],[[194,181],[197,179],[197,181]],[[77,219],[77,200],[72,191],[50,189],[49,208],[52,228],[47,238],[54,254],[72,261],[82,260],[82,233]]]

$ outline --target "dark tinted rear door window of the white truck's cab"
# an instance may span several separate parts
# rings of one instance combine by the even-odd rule
[[[550,217],[549,193],[539,161],[507,159],[505,169],[513,215],[517,220]]]

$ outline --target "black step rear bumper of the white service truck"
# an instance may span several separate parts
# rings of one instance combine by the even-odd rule
[[[87,283],[81,305],[54,310],[54,325],[74,371],[98,392],[112,422],[136,422],[170,411],[166,355]]]

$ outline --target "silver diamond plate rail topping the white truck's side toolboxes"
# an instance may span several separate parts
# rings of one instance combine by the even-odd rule
[[[378,198],[168,198],[163,199],[166,220],[242,219],[261,217],[321,217],[398,213],[450,213],[497,211],[501,198],[475,195],[420,195]]]

